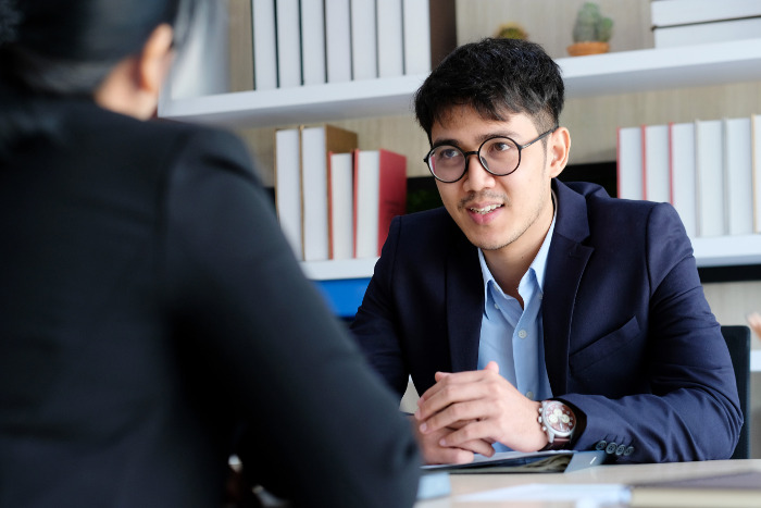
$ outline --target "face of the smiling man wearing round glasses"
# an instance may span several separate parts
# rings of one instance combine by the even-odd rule
[[[507,121],[485,120],[471,107],[456,107],[431,131],[433,145],[454,145],[475,151],[494,136],[524,145],[539,134],[526,114]],[[547,146],[537,141],[521,151],[521,164],[507,176],[488,173],[476,156],[469,156],[467,173],[454,183],[436,181],[441,200],[467,239],[485,251],[538,249],[552,222],[550,182],[562,171],[554,162],[556,134]],[[488,255],[488,252],[486,252]]]

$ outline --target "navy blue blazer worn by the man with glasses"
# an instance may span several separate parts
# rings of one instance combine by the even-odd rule
[[[545,361],[553,396],[586,416],[574,448],[728,458],[743,423],[732,361],[676,211],[552,188]],[[477,249],[440,208],[394,220],[352,332],[400,396],[410,374],[422,394],[437,371],[477,368],[483,307]]]

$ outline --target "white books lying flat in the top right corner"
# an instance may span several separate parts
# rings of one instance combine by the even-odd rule
[[[652,0],[656,48],[757,38],[759,0]]]

